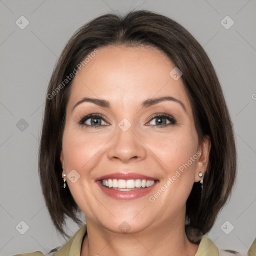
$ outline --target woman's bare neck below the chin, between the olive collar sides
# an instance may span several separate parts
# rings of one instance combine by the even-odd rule
[[[194,256],[198,248],[198,244],[188,240],[184,223],[181,225],[173,218],[152,224],[142,231],[125,234],[114,233],[87,219],[86,225],[81,256]]]

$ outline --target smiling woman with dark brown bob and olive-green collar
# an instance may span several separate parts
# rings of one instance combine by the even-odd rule
[[[46,98],[46,205],[63,236],[65,217],[86,220],[53,255],[219,255],[205,233],[235,179],[234,135],[187,30],[149,11],[99,16],[65,46]]]

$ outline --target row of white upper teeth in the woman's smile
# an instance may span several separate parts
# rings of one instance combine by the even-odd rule
[[[102,179],[102,185],[107,187],[118,188],[134,188],[134,187],[148,187],[154,183],[154,180],[146,179]]]

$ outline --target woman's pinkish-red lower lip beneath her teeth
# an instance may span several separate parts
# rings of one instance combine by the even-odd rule
[[[138,188],[138,189],[129,190],[129,191],[120,191],[120,190],[115,190],[112,188],[107,188],[105,186],[102,186],[101,181],[97,181],[97,184],[99,185],[100,189],[106,195],[116,200],[133,200],[133,199],[137,199],[139,197],[145,196],[152,191],[152,189],[155,187],[157,183],[158,183],[158,180],[154,181],[154,183],[148,187]]]

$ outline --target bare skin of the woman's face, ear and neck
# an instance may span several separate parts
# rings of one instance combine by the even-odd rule
[[[185,202],[193,182],[206,170],[210,142],[201,144],[195,130],[192,108],[182,84],[169,72],[171,61],[148,46],[107,46],[75,75],[66,107],[66,121],[60,160],[63,173],[75,169],[80,177],[66,182],[87,224],[81,255],[194,255],[198,245],[189,242],[184,231]],[[148,98],[171,96],[141,108]],[[82,97],[108,100],[110,109],[91,102],[73,106]],[[83,116],[100,113],[103,126],[79,125]],[[176,122],[156,123],[156,113],[172,115]],[[123,131],[118,123],[126,118],[131,127]],[[90,124],[91,119],[85,122]],[[158,125],[158,126],[156,126]],[[153,195],[184,163],[200,152],[188,168],[155,201]],[[134,200],[106,196],[94,180],[113,172],[138,172],[156,177],[154,190]],[[122,233],[126,221],[130,229]]]

